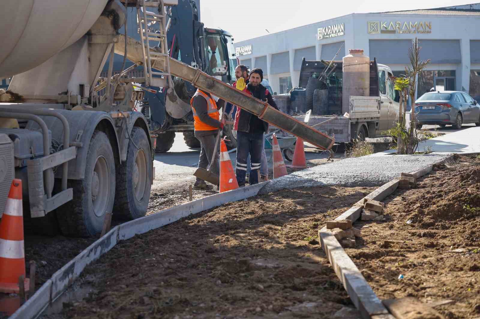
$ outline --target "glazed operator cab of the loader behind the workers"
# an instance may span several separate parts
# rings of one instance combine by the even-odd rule
[[[235,68],[238,66],[232,34],[222,29],[205,28],[204,45],[205,72],[232,84],[235,81]]]

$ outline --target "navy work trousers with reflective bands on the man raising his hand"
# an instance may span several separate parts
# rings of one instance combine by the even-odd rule
[[[262,159],[263,133],[237,132],[237,167],[235,173],[239,186],[245,185],[247,173],[247,156],[250,154],[250,185],[258,183],[258,172]]]

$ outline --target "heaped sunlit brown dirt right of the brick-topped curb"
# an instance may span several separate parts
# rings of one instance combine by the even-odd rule
[[[357,222],[360,249],[346,250],[377,296],[452,299],[437,308],[445,318],[478,318],[480,156],[457,157],[384,202],[387,219]]]

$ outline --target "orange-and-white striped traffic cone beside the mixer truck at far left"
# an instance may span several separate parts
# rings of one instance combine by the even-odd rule
[[[18,294],[21,275],[25,278],[22,180],[14,179],[0,221],[0,292]],[[24,286],[27,291],[29,279]]]

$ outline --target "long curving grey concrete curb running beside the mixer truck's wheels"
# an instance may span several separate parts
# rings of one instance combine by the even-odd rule
[[[107,234],[96,240],[54,273],[9,319],[36,318],[47,308],[48,304],[55,301],[67,290],[88,264],[111,250],[120,240],[130,239],[137,234],[143,234],[152,229],[173,223],[180,218],[197,214],[219,205],[255,196],[269,182],[266,181],[224,193],[213,194],[186,204],[161,210],[110,229]]]

